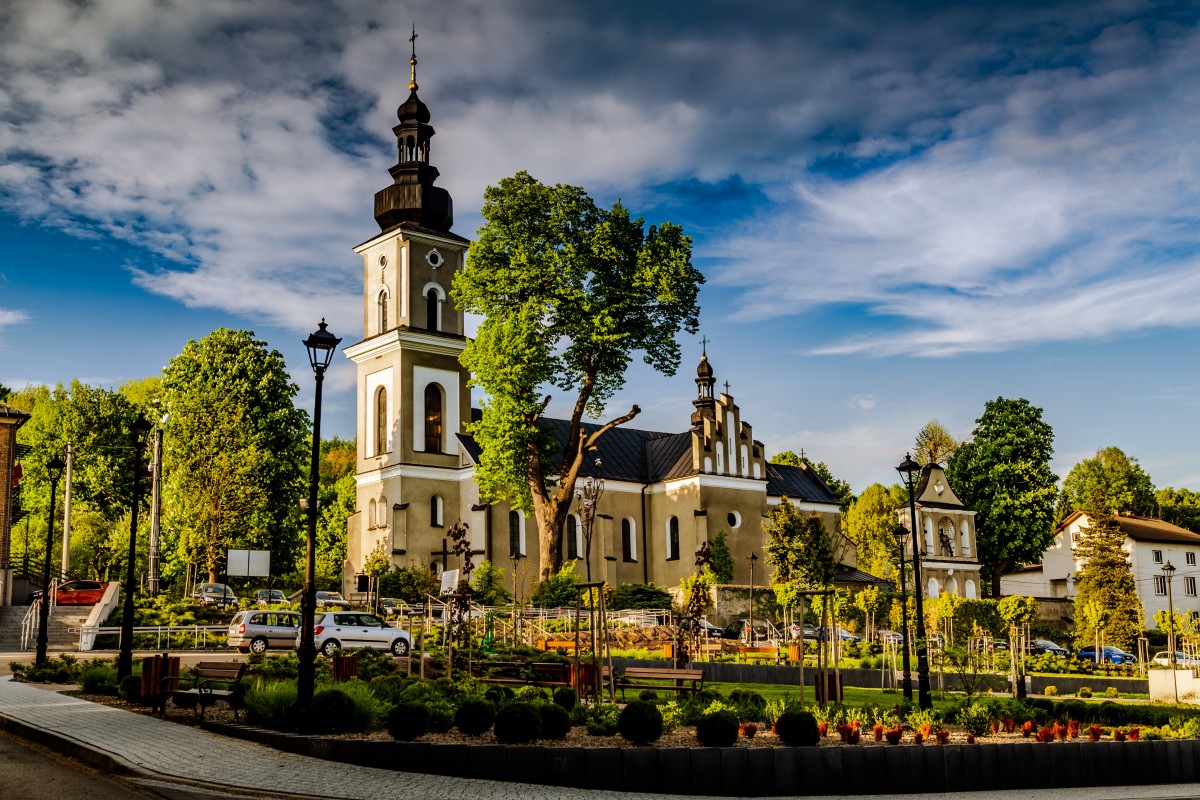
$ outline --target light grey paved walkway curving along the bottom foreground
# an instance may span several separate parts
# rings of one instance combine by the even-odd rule
[[[679,795],[631,795],[336,764],[64,697],[8,679],[0,679],[0,717],[40,732],[43,744],[56,740],[61,747],[78,751],[82,746],[98,756],[108,754],[143,778],[234,790],[337,800],[679,800]],[[1054,793],[1056,800],[1094,800],[1097,796],[1094,788],[1055,789]],[[1200,784],[1111,787],[1103,794],[1122,800],[1200,798]],[[1012,792],[894,796],[898,800],[1012,800]]]

